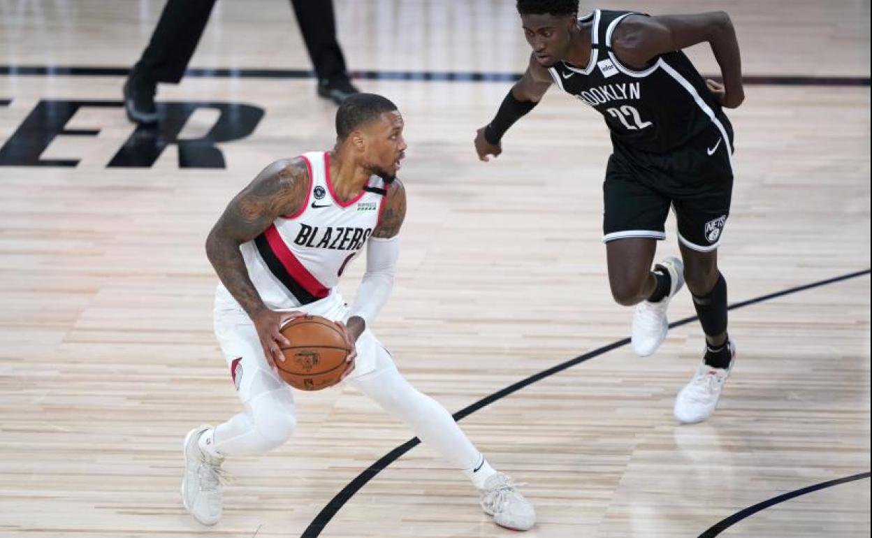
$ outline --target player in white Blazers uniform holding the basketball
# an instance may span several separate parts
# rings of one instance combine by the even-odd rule
[[[221,284],[215,336],[244,410],[218,426],[200,426],[184,442],[181,495],[197,521],[221,517],[221,463],[265,453],[294,432],[279,332],[303,313],[343,331],[353,370],[345,382],[402,419],[472,480],[494,521],[527,530],[535,511],[508,477],[491,467],[444,407],[416,391],[370,326],[391,293],[405,218],[405,189],[395,179],[405,154],[403,118],[384,97],[360,93],[337,110],[337,145],[266,167],[230,201],[208,235],[206,251]],[[366,272],[349,308],[335,286],[366,245]]]

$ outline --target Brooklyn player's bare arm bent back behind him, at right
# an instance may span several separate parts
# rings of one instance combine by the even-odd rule
[[[724,79],[723,85],[713,80],[706,80],[706,84],[722,106],[736,108],[745,100],[742,60],[736,31],[726,12],[662,17],[631,15],[617,25],[612,46],[623,63],[642,68],[660,54],[704,42],[711,44]]]

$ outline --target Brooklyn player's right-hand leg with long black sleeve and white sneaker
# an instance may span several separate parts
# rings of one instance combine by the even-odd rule
[[[678,422],[692,424],[712,415],[735,363],[736,346],[727,337],[726,280],[718,270],[718,251],[681,244],[687,287],[705,332],[705,351],[691,381],[675,398]]]

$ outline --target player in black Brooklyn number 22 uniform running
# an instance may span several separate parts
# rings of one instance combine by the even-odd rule
[[[705,332],[705,353],[678,392],[679,422],[705,420],[718,405],[735,357],[726,330],[726,281],[718,245],[732,194],[732,126],[739,106],[739,44],[724,12],[649,17],[595,10],[578,18],[577,0],[518,0],[527,71],[496,117],[478,131],[480,160],[498,156],[501,137],[553,84],[603,114],[614,146],[603,183],[603,241],[617,303],[637,305],[632,345],[640,356],[663,343],[666,308],[686,282]],[[681,50],[707,42],[723,84],[705,80]],[[681,260],[651,269],[673,208]]]

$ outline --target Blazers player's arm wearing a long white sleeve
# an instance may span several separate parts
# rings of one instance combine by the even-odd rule
[[[366,272],[351,305],[348,332],[357,340],[387,303],[399,259],[399,228],[405,220],[405,187],[394,180],[381,220],[366,243]]]

